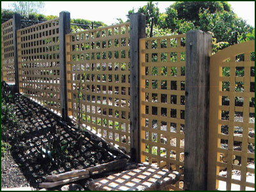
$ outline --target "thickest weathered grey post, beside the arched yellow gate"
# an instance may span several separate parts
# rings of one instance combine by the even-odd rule
[[[207,190],[209,56],[211,34],[186,34],[186,106],[184,189]]]

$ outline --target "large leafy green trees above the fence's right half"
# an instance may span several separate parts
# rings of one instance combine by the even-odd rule
[[[147,36],[151,17],[154,17],[155,24],[153,36],[182,34],[194,29],[209,31],[212,33],[212,53],[254,39],[254,28],[238,18],[227,1],[177,1],[164,13],[159,13],[157,3],[150,1],[138,12],[146,15]],[[127,17],[132,13],[134,9]]]

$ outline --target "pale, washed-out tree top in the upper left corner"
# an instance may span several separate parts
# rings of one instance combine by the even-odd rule
[[[12,3],[13,11],[20,13],[20,15],[42,13],[44,6],[44,1],[14,1]]]

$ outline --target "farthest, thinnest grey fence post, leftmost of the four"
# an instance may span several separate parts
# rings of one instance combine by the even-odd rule
[[[17,49],[17,30],[21,28],[20,25],[20,14],[14,13],[12,20],[12,31],[13,31],[13,59],[15,69],[15,92],[19,93],[19,66],[18,66],[18,49]]]

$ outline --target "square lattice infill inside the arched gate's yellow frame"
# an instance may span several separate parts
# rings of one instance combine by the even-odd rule
[[[227,190],[250,190],[255,173],[255,53],[232,56],[220,65],[217,180]],[[227,174],[219,173],[226,170]]]

